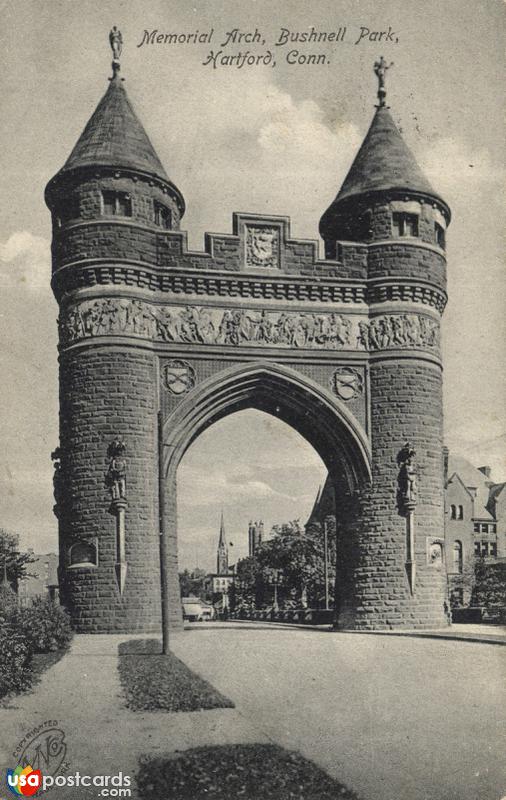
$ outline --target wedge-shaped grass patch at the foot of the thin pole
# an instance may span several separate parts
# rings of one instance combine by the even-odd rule
[[[122,642],[119,674],[126,704],[133,711],[201,711],[233,708],[234,704],[213,689],[173,653],[161,654],[158,639]]]

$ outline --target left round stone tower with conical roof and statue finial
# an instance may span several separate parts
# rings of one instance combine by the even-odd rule
[[[185,205],[135,114],[117,58],[106,93],[46,188],[46,202],[60,305],[55,495],[62,597],[81,630],[156,629],[157,365],[152,349],[132,347],[124,333],[145,330],[138,299],[147,286],[145,264],[155,258],[156,233],[179,229]],[[119,283],[101,285],[101,269],[119,269]],[[67,309],[84,299],[85,310],[77,317],[69,310],[66,323]],[[69,346],[69,318],[83,333],[98,334],[92,347]],[[115,335],[100,341],[113,319]],[[114,482],[104,486],[109,448],[118,438],[126,471],[123,510],[111,498]],[[121,515],[123,542],[116,530]]]

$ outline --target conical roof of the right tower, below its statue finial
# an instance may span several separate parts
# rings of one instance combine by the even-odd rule
[[[418,166],[390,111],[380,106],[334,202],[392,189],[421,192],[441,200]]]

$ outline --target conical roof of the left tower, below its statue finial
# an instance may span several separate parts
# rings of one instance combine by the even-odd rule
[[[61,172],[89,166],[123,167],[169,182],[118,72]]]

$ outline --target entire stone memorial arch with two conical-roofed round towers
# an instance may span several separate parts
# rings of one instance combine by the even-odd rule
[[[336,624],[446,624],[450,211],[393,122],[388,65],[375,64],[371,127],[320,221],[324,259],[286,217],[243,213],[191,252],[183,195],[126,94],[121,34],[110,38],[108,89],[46,189],[60,306],[55,513],[75,626],[156,630],[160,563],[181,624],[177,467],[206,427],[244,408],[293,426],[329,470]]]

